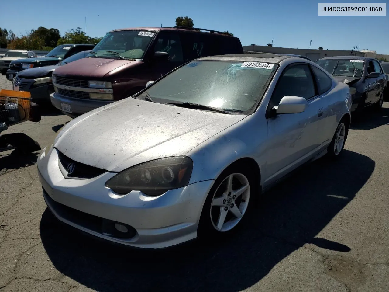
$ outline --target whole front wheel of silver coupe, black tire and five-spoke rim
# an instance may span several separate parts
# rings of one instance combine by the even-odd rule
[[[256,193],[254,181],[242,164],[231,165],[220,174],[203,206],[197,229],[200,240],[226,236],[248,217]]]

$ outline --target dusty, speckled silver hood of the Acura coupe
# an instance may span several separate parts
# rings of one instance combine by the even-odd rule
[[[127,98],[70,121],[54,147],[77,162],[119,172],[149,160],[185,155],[245,117]]]

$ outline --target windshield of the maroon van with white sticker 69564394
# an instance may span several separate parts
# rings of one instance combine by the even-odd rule
[[[93,49],[90,57],[142,59],[155,32],[120,30],[109,32]]]

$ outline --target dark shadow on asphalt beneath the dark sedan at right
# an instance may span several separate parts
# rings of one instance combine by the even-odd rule
[[[389,108],[382,107],[377,113],[374,109],[367,107],[361,114],[354,114],[351,118],[350,129],[371,130],[382,125],[389,124]]]

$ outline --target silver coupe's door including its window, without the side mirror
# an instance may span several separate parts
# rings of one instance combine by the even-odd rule
[[[286,95],[304,97],[307,109],[297,114],[279,114],[268,121],[268,183],[272,183],[289,171],[306,162],[320,145],[317,138],[320,109],[314,78],[307,63],[289,65],[270,99],[268,110],[277,106]],[[326,109],[322,109],[322,112]]]

